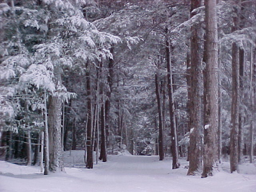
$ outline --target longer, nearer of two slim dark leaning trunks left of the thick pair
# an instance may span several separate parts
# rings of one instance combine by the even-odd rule
[[[169,112],[170,112],[170,124],[171,124],[171,151],[172,151],[172,169],[179,168],[178,162],[178,143],[177,143],[177,132],[176,122],[174,114],[174,99],[173,99],[173,88],[172,88],[172,72],[171,72],[171,53],[170,53],[170,42],[168,39],[168,28],[166,27],[166,65],[167,65],[167,86],[168,86],[168,97],[169,97]]]

